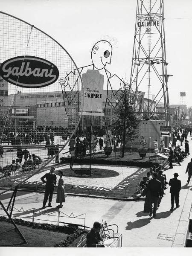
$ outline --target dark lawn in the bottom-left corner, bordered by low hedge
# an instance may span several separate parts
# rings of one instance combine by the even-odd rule
[[[17,225],[28,244],[23,244],[20,235],[15,231],[12,223],[0,221],[0,246],[19,247],[54,247],[55,244],[67,238],[68,234],[48,230],[33,229]],[[78,239],[76,239],[78,240]]]

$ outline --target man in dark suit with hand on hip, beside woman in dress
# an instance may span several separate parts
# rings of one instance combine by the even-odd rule
[[[51,205],[52,194],[53,194],[53,191],[54,191],[56,183],[57,183],[57,177],[56,177],[55,173],[53,173],[54,171],[55,171],[55,168],[51,167],[50,172],[46,173],[44,176],[41,177],[41,180],[43,181],[43,183],[44,184],[46,183],[42,209],[45,209],[45,205],[47,203],[48,197],[49,197],[48,207],[52,207],[52,205]],[[46,178],[46,181],[44,180],[44,178]]]

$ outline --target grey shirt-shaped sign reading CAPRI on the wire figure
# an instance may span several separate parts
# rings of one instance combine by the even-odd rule
[[[103,102],[103,83],[104,76],[99,70],[87,70],[82,74],[84,84],[84,108],[83,112],[99,112],[102,113]]]

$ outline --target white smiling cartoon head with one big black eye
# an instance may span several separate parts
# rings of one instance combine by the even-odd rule
[[[111,63],[112,46],[108,41],[97,42],[92,49],[91,59],[94,67],[101,70],[106,64]]]

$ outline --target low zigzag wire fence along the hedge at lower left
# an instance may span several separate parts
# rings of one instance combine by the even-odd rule
[[[9,206],[8,213],[11,212],[11,205]],[[0,208],[0,215],[1,216],[7,216],[4,212],[3,208]],[[74,215],[73,212],[71,212],[70,215],[61,212],[60,210],[55,212],[41,212],[39,209],[31,208],[26,211],[23,210],[23,207],[19,209],[16,209],[13,207],[12,212],[12,218],[22,218],[26,221],[32,221],[32,223],[50,223],[50,224],[56,224],[58,226],[64,225],[64,224],[75,224],[81,227],[85,226],[85,218],[86,213],[80,214],[80,215]]]

